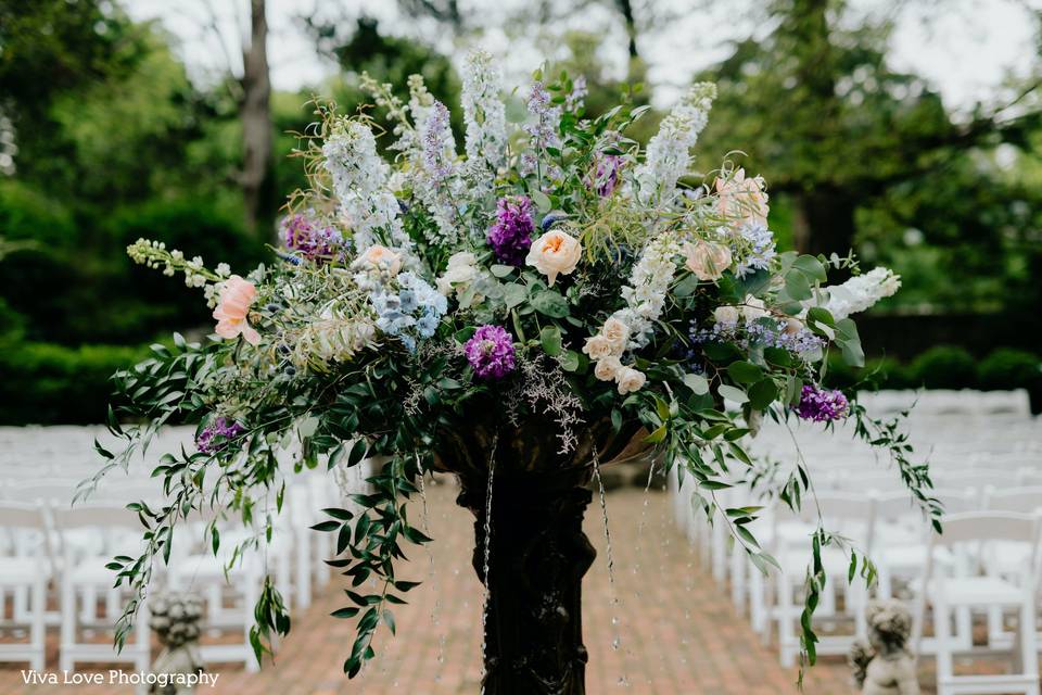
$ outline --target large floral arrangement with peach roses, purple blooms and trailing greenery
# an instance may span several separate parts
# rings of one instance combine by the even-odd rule
[[[446,465],[442,441],[479,422],[498,432],[538,418],[556,442],[550,465],[596,466],[605,439],[655,447],[712,510],[716,491],[734,484],[733,467],[751,470],[741,442],[764,415],[856,418],[859,434],[889,451],[937,515],[928,472],[907,459],[895,427],[822,386],[829,351],[862,364],[850,315],[897,291],[899,278],[884,268],[861,275],[852,257],[777,249],[763,178],[730,160],[695,168],[713,85],[691,86],[641,147],[626,132],[647,108],[587,116],[584,84],[567,75],[536,73],[526,117],[508,122],[495,65],[474,52],[462,71],[466,155],[420,77],[409,79],[407,102],[390,85],[364,87],[394,124],[389,156],[365,114],[319,104],[296,153],[310,188],[291,197],[271,264],[232,275],[161,242],[128,249],[138,263],[183,273],[216,324],[202,344],[175,336],[115,378],[110,427],[126,446],[98,446],[106,469],[126,466],[165,422],[200,424],[198,450],[166,455],[155,471],[169,504],[131,505],[147,543],[140,557],[112,565],[138,592],[122,635],[190,510],[212,506],[259,527],[244,544],[270,535],[282,448],[298,470],[387,460],[371,492],[354,496],[360,511],[326,509],[315,527],[335,534],[330,565],[352,580],[352,605],[333,614],[357,619],[351,675],[373,656],[379,623],[394,630],[392,608],[416,585],[394,560],[403,544],[430,541],[405,504],[418,477]],[[828,286],[836,269],[853,277]],[[120,424],[131,420],[144,425]],[[813,492],[805,466],[774,492],[799,505]],[[747,529],[755,516],[754,507],[726,514],[740,547],[765,567],[773,560]],[[216,552],[217,528],[209,533]],[[813,554],[839,542],[819,529]],[[809,610],[824,582],[813,567]],[[864,559],[862,571],[871,571]],[[290,627],[270,582],[256,617],[259,658]]]

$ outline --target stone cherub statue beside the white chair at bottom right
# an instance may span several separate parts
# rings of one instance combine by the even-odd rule
[[[919,695],[915,658],[908,650],[912,616],[898,601],[873,601],[866,610],[868,642],[854,642],[847,656],[863,695]]]

